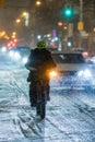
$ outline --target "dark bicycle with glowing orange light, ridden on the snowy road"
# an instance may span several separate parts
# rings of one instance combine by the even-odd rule
[[[27,81],[34,82],[33,84],[35,84],[36,86],[35,87],[36,94],[34,94],[35,98],[33,98],[35,99],[35,105],[32,105],[32,106],[36,107],[37,116],[40,116],[40,119],[44,119],[46,117],[46,104],[48,100],[50,100],[49,79],[50,76],[55,76],[56,72],[54,72],[52,70],[51,71],[47,70],[46,72],[41,73],[37,71],[35,68],[32,68],[32,69],[34,69],[34,72],[28,74],[28,78],[27,78]]]

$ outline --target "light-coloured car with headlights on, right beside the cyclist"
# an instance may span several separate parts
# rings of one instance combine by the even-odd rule
[[[92,70],[81,52],[52,51],[51,55],[57,64],[60,85],[93,88]]]

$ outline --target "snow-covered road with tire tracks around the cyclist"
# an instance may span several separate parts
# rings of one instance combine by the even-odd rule
[[[46,119],[29,107],[27,71],[0,71],[0,142],[95,142],[95,93],[51,88]]]

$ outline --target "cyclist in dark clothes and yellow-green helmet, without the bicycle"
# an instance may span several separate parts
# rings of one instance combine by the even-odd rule
[[[27,70],[29,70],[27,78],[27,82],[29,82],[29,102],[31,106],[35,107],[37,102],[36,81],[38,80],[38,76],[44,75],[46,70],[56,68],[56,63],[52,60],[51,52],[46,49],[46,43],[44,40],[38,42],[37,47],[31,50],[31,55],[25,67]],[[49,76],[45,78],[48,94],[47,100],[50,99],[49,80]]]

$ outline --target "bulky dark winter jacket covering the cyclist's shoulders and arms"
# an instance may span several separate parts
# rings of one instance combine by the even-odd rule
[[[28,57],[28,61],[25,64],[25,67],[27,69],[29,69],[29,67],[34,67],[37,70],[48,70],[50,68],[55,68],[56,63],[52,60],[51,54],[50,51],[48,51],[47,49],[34,49],[31,50],[31,55]]]

